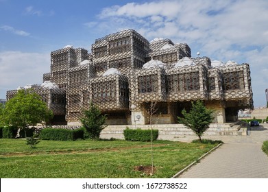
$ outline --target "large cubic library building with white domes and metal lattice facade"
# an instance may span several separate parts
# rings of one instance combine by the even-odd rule
[[[107,114],[108,125],[148,124],[151,102],[158,124],[177,123],[198,99],[215,110],[215,123],[253,108],[249,64],[192,58],[186,43],[149,42],[133,29],[96,39],[91,53],[71,45],[52,51],[50,69],[42,84],[8,91],[7,99],[32,88],[53,110],[54,125],[79,125],[90,102]]]

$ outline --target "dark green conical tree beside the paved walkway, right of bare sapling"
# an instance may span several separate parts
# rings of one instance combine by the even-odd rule
[[[214,117],[212,113],[214,110],[207,109],[204,106],[203,101],[192,101],[192,108],[189,112],[185,109],[182,110],[184,117],[178,117],[178,121],[183,123],[187,128],[190,128],[199,137],[199,141],[202,142],[201,136],[209,128],[209,124],[212,123]]]

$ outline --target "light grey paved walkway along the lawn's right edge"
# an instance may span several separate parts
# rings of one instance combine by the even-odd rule
[[[204,139],[221,140],[224,144],[179,178],[268,178],[268,156],[261,150],[263,141],[268,140],[268,124],[251,128],[248,134],[204,136]]]

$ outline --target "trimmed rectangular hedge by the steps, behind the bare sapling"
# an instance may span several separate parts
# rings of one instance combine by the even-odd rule
[[[158,130],[153,131],[153,141],[158,139]],[[124,130],[124,136],[126,141],[151,141],[151,130],[130,130],[127,128]]]

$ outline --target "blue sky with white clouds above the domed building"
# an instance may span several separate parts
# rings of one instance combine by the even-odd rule
[[[254,107],[266,106],[267,0],[0,0],[0,98],[42,84],[50,52],[66,45],[91,52],[95,39],[134,29],[147,40],[187,43],[192,57],[248,63]]]

